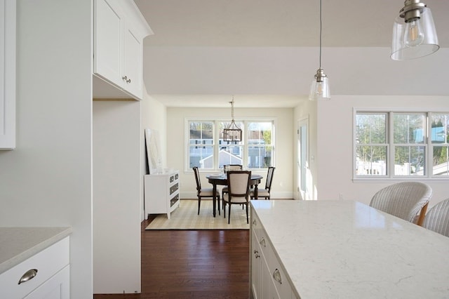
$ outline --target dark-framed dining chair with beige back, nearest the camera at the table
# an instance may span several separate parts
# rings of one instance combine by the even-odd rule
[[[226,218],[226,205],[229,204],[229,215],[227,223],[231,223],[231,206],[233,204],[244,204],[246,206],[246,223],[248,218],[248,203],[250,193],[251,171],[228,171],[227,187],[228,192],[223,197],[223,215]]]

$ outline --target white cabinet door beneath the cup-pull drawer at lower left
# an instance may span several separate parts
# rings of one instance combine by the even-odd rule
[[[70,266],[48,279],[44,284],[29,293],[25,299],[69,299]]]

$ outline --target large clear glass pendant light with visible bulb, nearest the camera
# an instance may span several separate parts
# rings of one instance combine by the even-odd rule
[[[391,59],[409,60],[440,48],[430,8],[420,0],[406,0],[394,20]]]

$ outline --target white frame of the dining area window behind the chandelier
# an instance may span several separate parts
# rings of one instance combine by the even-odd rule
[[[267,122],[272,121],[273,127],[272,127],[272,166],[276,165],[276,123],[277,119],[275,117],[247,117],[245,120],[242,119],[234,119],[237,124],[243,123],[243,140],[241,146],[243,146],[243,154],[242,154],[242,165],[243,168],[248,169],[249,171],[266,171],[268,168],[247,168],[248,165],[248,123],[254,123],[254,122]],[[218,167],[219,161],[218,161],[218,151],[219,145],[218,145],[218,136],[220,136],[220,126],[219,124],[221,122],[229,122],[229,118],[214,118],[214,119],[208,119],[205,117],[187,117],[185,118],[185,144],[184,144],[184,151],[185,151],[185,171],[192,171],[192,168],[189,166],[189,122],[196,121],[196,122],[204,122],[204,121],[211,121],[214,123],[214,132],[213,132],[213,168],[208,169],[199,169],[199,171],[220,171],[220,168]]]

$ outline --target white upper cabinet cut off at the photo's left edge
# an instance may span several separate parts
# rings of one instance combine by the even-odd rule
[[[0,150],[15,148],[15,0],[0,0]]]

